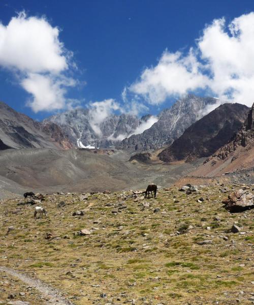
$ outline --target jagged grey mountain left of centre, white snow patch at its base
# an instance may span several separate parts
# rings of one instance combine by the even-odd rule
[[[94,128],[89,109],[77,108],[46,118],[43,124],[55,123],[80,148],[107,148],[133,134],[151,115],[138,118],[131,114],[112,114]]]

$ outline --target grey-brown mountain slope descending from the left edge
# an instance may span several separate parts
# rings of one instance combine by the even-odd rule
[[[73,147],[67,135],[56,125],[42,125],[0,102],[0,150],[8,148]]]

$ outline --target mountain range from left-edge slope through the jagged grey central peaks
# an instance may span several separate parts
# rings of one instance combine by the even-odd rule
[[[97,123],[92,109],[76,108],[39,122],[1,102],[0,149],[157,149],[172,143],[215,104],[216,99],[188,95],[157,117],[109,114]]]

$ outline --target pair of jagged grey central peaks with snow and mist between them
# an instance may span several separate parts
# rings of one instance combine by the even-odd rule
[[[81,148],[115,146],[131,151],[149,150],[170,144],[214,104],[216,99],[188,95],[157,117],[110,114],[97,125],[91,109],[77,108],[46,118],[43,124],[57,124],[68,134],[72,144]]]

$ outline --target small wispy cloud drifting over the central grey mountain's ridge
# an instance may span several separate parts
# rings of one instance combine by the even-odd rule
[[[93,131],[98,135],[102,135],[100,124],[103,123],[110,114],[120,109],[119,104],[113,99],[90,103],[89,107],[89,123]]]

